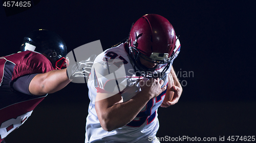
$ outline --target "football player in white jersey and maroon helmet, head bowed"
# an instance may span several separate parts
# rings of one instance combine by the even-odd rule
[[[172,67],[179,52],[172,24],[147,14],[134,23],[129,39],[99,54],[88,80],[85,142],[159,142],[157,109],[177,103],[182,93]],[[162,104],[171,89],[173,100]]]

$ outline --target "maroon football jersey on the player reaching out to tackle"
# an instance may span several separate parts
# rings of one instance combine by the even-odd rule
[[[21,126],[36,105],[47,96],[21,93],[12,87],[12,83],[21,76],[51,70],[50,61],[37,52],[23,51],[0,57],[0,142]],[[28,88],[31,79],[24,81],[25,87]]]

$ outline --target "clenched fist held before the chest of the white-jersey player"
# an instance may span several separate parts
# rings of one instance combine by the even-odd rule
[[[150,96],[150,99],[157,97],[163,91],[166,90],[166,85],[163,85],[164,81],[160,80],[159,78],[150,78],[148,80],[140,80],[140,88],[142,92],[145,92],[145,95]]]

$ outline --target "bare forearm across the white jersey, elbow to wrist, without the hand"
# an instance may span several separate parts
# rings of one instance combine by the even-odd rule
[[[133,121],[150,100],[143,94],[145,93],[139,92],[129,101],[112,105],[99,114],[97,112],[102,128],[106,131],[112,131]]]

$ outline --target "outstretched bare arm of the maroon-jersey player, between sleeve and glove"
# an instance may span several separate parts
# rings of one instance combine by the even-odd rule
[[[52,70],[37,74],[29,84],[29,92],[33,95],[45,95],[63,89],[70,82],[66,70]]]

